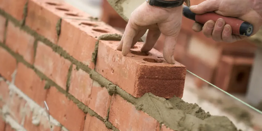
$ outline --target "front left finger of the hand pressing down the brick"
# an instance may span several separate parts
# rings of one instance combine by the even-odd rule
[[[127,55],[131,49],[133,39],[137,34],[137,31],[131,26],[131,24],[127,24],[127,28],[125,29],[125,37],[123,39],[123,48],[122,54]]]

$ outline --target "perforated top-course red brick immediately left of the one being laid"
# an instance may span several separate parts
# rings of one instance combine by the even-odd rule
[[[103,22],[63,19],[58,45],[75,59],[94,69],[92,53],[95,50],[95,43],[99,36],[107,33],[122,34]]]

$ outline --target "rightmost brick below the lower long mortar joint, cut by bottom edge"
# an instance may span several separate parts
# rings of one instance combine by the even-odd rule
[[[86,114],[84,131],[113,131],[108,129],[103,121]]]

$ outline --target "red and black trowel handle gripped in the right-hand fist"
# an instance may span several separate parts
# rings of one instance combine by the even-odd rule
[[[234,35],[250,36],[253,32],[252,24],[237,18],[225,17],[214,12],[208,12],[199,15],[191,12],[189,7],[183,6],[183,16],[201,24],[205,24],[208,20],[213,20],[216,22],[217,19],[222,18],[225,20],[226,24],[231,26],[232,34]]]

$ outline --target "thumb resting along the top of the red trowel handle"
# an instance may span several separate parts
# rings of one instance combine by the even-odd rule
[[[204,14],[217,10],[220,2],[220,0],[206,0],[198,5],[190,6],[189,9],[196,14]]]

